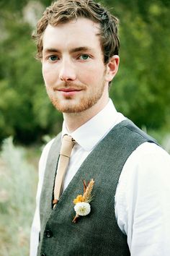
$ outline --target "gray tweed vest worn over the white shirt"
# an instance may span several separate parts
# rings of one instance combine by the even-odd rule
[[[130,255],[127,236],[120,231],[115,218],[115,191],[128,157],[146,141],[155,142],[130,120],[117,124],[82,163],[52,209],[61,135],[55,138],[48,155],[40,198],[41,233],[37,255]],[[92,178],[95,184],[91,212],[72,223],[75,216],[73,199],[83,194],[82,180]]]

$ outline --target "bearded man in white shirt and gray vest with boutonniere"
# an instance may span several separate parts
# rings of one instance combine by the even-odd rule
[[[58,0],[34,38],[64,121],[40,158],[30,255],[170,255],[169,154],[109,99],[120,61],[117,18],[91,0]],[[64,135],[74,145],[55,196]]]

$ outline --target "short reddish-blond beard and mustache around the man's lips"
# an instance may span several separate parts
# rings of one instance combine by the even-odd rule
[[[99,99],[102,97],[104,91],[105,83],[104,81],[101,85],[97,87],[89,86],[78,86],[73,85],[73,83],[66,83],[63,88],[78,88],[81,89],[81,95],[72,96],[64,96],[63,98],[58,97],[57,88],[48,88],[46,87],[48,97],[50,101],[53,103],[53,106],[58,109],[58,111],[62,113],[80,113],[86,111],[96,104]],[[83,94],[83,95],[82,95]]]

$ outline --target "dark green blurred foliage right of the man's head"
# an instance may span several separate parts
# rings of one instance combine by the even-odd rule
[[[117,7],[122,64],[112,97],[139,127],[169,129],[169,8],[166,1],[136,1],[132,8]]]

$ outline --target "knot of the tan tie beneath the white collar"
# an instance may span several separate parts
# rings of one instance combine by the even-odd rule
[[[64,135],[61,143],[61,155],[65,155],[69,158],[74,144],[75,140],[73,140],[71,136]]]

